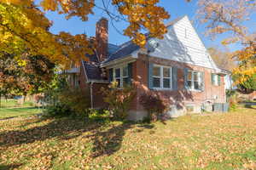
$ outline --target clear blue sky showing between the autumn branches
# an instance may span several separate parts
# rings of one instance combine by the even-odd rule
[[[108,4],[108,2],[111,0],[105,0],[105,2]],[[102,7],[102,0],[96,0],[96,4],[98,7]],[[165,7],[166,11],[171,14],[171,18],[169,20],[166,20],[167,22],[170,22],[171,20],[175,20],[177,17],[188,15],[190,20],[195,20],[195,11],[197,8],[196,1],[192,1],[191,3],[186,3],[185,0],[160,0],[160,6]],[[111,11],[113,10],[113,7],[109,5],[109,8]],[[108,18],[108,15],[105,14],[102,9],[100,8],[94,8],[95,14],[89,16],[88,21],[82,21],[78,17],[73,17],[70,20],[66,20],[64,15],[56,14],[53,12],[47,12],[46,16],[49,18],[49,20],[52,20],[54,22],[54,25],[50,28],[50,31],[53,33],[58,33],[59,31],[67,31],[74,34],[81,34],[86,33],[89,36],[95,36],[95,26],[96,21],[101,19],[102,17]],[[250,21],[247,23],[247,26],[251,28],[251,30],[256,29],[256,19],[253,19],[253,21]],[[119,32],[122,32],[125,27],[128,25],[124,21],[120,22],[113,22],[113,25],[109,22],[109,42],[113,44],[120,44],[125,41],[128,41],[129,38],[121,35]],[[195,29],[198,32],[199,36],[201,37],[204,44],[209,47],[219,47],[222,48],[220,40],[224,36],[219,36],[217,39],[212,41],[209,37],[205,37],[203,33],[205,32],[204,26],[202,26],[200,23],[195,22],[194,23]],[[118,30],[118,31],[117,31]],[[237,45],[231,45],[230,50],[234,51],[239,46]]]

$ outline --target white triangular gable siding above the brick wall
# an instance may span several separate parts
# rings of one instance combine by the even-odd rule
[[[159,46],[151,56],[218,69],[187,16],[169,26],[164,39],[154,40]]]

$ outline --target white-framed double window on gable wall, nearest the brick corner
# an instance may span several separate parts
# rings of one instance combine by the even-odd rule
[[[172,88],[172,67],[153,65],[153,88]]]

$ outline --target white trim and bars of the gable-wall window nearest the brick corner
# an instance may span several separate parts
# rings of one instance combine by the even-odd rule
[[[155,90],[172,90],[172,67],[171,66],[165,66],[165,65],[153,65],[154,66],[160,67],[160,77],[156,77],[152,74],[152,77],[154,78],[160,78],[160,88],[154,88],[153,84],[153,89]],[[164,68],[167,68],[170,70],[170,77],[164,77]],[[170,88],[164,88],[164,78],[170,78]]]

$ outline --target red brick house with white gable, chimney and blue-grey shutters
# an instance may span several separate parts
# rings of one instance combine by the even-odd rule
[[[74,73],[80,88],[90,93],[91,107],[106,105],[100,88],[111,81],[119,82],[120,88],[125,83],[139,84],[129,111],[131,120],[147,116],[139,99],[148,90],[169,100],[170,116],[201,112],[203,105],[225,103],[226,72],[215,65],[189,18],[174,20],[167,29],[164,39],[148,37],[146,48],[131,41],[116,46],[108,43],[108,20],[97,22],[96,53]]]

